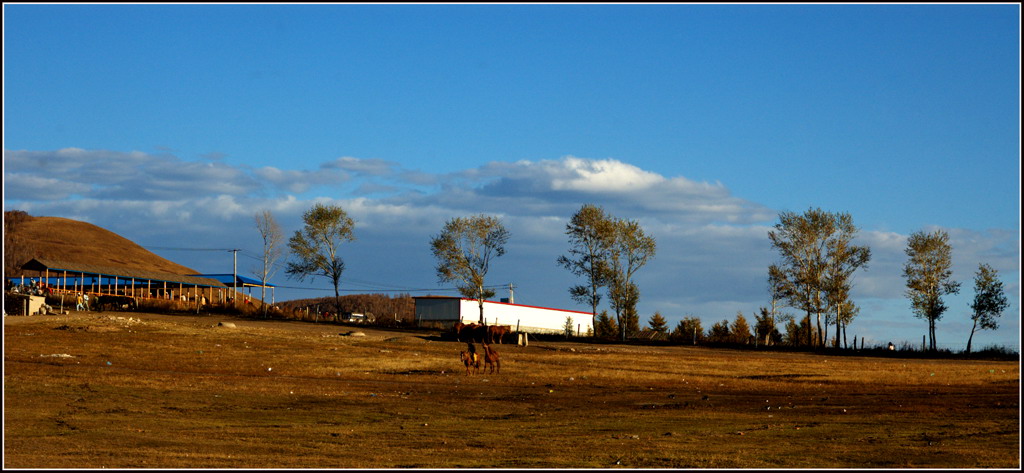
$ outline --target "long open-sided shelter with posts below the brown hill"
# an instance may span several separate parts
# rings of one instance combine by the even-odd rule
[[[126,296],[135,299],[196,300],[205,296],[210,301],[225,300],[227,286],[210,278],[185,274],[169,274],[111,267],[48,258],[34,258],[22,265],[23,275],[8,277],[13,285],[20,280],[46,294],[91,294],[95,296]],[[25,275],[35,271],[39,275]]]

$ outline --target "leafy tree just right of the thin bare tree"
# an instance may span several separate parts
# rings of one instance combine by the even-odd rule
[[[316,203],[302,214],[304,226],[288,241],[292,261],[285,272],[304,281],[307,276],[323,275],[334,285],[335,310],[340,311],[341,274],[345,262],[339,255],[341,244],[352,242],[355,223],[341,206]]]

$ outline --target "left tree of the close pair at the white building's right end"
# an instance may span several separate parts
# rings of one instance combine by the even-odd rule
[[[569,296],[581,304],[590,304],[593,324],[597,325],[597,306],[601,289],[608,285],[610,268],[608,252],[614,224],[601,207],[586,204],[565,225],[569,238],[567,255],[558,257],[558,264],[584,282],[569,288]]]

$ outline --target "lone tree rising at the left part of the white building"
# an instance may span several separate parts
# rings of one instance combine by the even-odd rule
[[[441,232],[430,240],[437,260],[437,280],[455,283],[464,297],[476,299],[483,324],[483,301],[495,296],[484,286],[484,277],[495,258],[505,254],[509,231],[498,217],[475,215],[449,220]]]

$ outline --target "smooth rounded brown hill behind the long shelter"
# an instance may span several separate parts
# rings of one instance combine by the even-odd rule
[[[22,265],[33,258],[168,274],[199,272],[91,223],[60,217],[33,217],[17,210],[4,212],[3,223],[5,277],[22,275]]]

